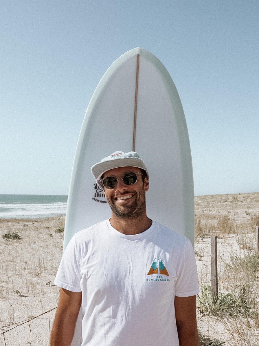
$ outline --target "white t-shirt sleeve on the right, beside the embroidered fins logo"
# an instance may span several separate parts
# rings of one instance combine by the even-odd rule
[[[175,295],[177,297],[190,297],[198,293],[199,282],[195,255],[190,240],[186,238],[183,257],[175,282]]]

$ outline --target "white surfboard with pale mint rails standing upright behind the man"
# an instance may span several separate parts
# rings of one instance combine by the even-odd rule
[[[136,151],[146,164],[147,216],[194,244],[194,192],[188,130],[170,74],[150,52],[134,48],[106,71],[80,131],[67,201],[65,250],[81,229],[111,217],[90,171],[115,151]],[[72,346],[80,346],[80,309]]]

